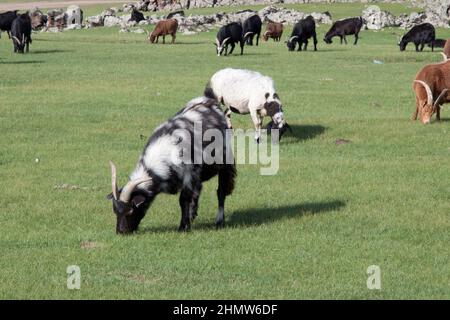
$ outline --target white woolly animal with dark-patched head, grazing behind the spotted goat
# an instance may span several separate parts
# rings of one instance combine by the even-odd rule
[[[231,112],[250,113],[257,143],[264,117],[272,118],[274,128],[282,129],[287,125],[272,78],[259,72],[231,68],[217,71],[206,85],[205,96],[216,99],[226,107],[229,128],[232,128]]]

